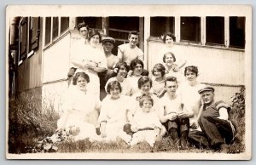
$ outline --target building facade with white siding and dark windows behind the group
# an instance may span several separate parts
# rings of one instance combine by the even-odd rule
[[[67,89],[67,71],[73,44],[80,39],[76,26],[84,21],[92,29],[128,42],[129,31],[139,31],[145,69],[162,62],[160,36],[176,36],[178,56],[199,68],[201,83],[214,86],[217,98],[230,100],[245,85],[246,17],[15,17],[9,20],[9,94],[35,95],[42,107],[49,102],[58,110]]]

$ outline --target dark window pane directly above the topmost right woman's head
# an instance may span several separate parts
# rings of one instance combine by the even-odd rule
[[[165,32],[174,34],[174,17],[151,17],[150,18],[150,36],[160,37]]]

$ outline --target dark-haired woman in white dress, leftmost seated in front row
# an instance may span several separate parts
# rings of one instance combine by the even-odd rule
[[[63,114],[57,122],[58,130],[66,130],[74,140],[96,139],[96,123],[101,108],[99,99],[87,94],[90,77],[77,72],[73,77],[74,88],[70,89],[63,100]]]

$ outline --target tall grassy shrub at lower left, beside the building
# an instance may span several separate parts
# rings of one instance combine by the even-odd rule
[[[38,139],[55,133],[59,115],[40,105],[31,94],[9,99],[9,153],[27,152]]]

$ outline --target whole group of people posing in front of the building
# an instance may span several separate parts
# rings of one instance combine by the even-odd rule
[[[230,106],[214,100],[214,88],[197,82],[198,68],[178,57],[172,33],[163,36],[163,62],[147,71],[137,31],[113,55],[113,37],[84,23],[78,29],[83,39],[74,43],[58,130],[70,129],[74,140],[124,140],[131,146],[146,141],[156,147],[168,138],[181,149],[192,143],[229,152],[236,134]]]

